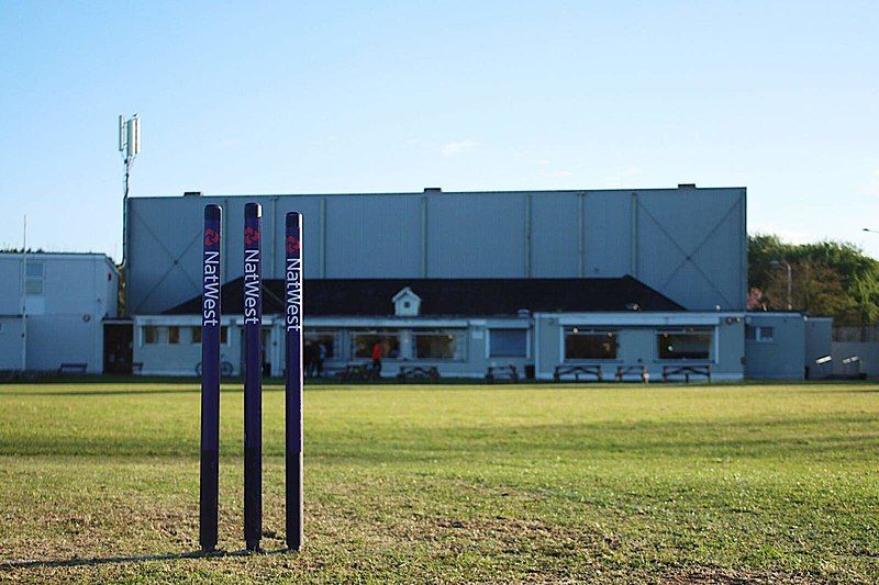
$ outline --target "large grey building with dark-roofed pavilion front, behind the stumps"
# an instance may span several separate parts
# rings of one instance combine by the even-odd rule
[[[329,368],[481,376],[514,365],[653,379],[803,378],[798,313],[746,312],[744,188],[129,200],[127,306],[143,373],[191,373],[203,207],[222,205],[223,361],[241,371],[243,212],[264,209],[264,368],[282,372],[282,225],[304,214],[305,331]],[[815,334],[815,335],[817,335]],[[810,353],[811,352],[811,353]],[[753,355],[753,359],[752,359]]]

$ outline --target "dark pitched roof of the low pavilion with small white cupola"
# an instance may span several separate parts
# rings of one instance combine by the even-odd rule
[[[244,280],[222,288],[224,313],[242,313]],[[390,316],[393,296],[409,286],[421,297],[421,314],[515,315],[531,312],[685,311],[632,277],[613,279],[314,279],[303,283],[305,315]],[[263,281],[263,312],[283,313],[283,281]],[[201,313],[201,296],[166,314]]]

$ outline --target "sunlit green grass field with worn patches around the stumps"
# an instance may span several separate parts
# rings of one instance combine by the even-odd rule
[[[283,538],[280,385],[264,545]],[[879,389],[311,385],[307,547],[198,548],[194,381],[0,385],[0,581],[877,581]],[[242,393],[221,547],[243,548]],[[165,555],[137,559],[140,555]]]

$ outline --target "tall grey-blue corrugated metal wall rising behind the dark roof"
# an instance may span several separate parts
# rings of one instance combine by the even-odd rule
[[[130,314],[200,294],[201,217],[223,205],[224,280],[242,273],[244,204],[264,209],[265,278],[283,214],[305,216],[307,278],[632,274],[691,310],[745,304],[745,189],[134,198]],[[230,229],[231,228],[231,229]]]

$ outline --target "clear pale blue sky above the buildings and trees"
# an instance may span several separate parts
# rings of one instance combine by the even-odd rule
[[[879,2],[0,0],[0,245],[121,256],[132,194],[748,188],[879,257]]]

